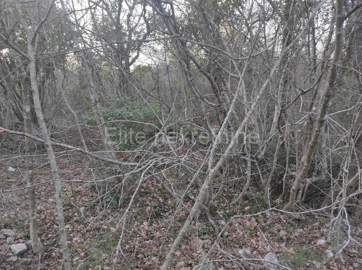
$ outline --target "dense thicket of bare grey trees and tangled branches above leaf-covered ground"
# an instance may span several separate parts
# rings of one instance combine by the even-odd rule
[[[193,199],[161,269],[200,209],[212,219],[218,196],[238,204],[261,192],[265,209],[294,218],[304,218],[307,204],[331,213],[333,224],[359,218],[361,4],[5,0],[0,7],[0,153],[26,151],[32,170],[35,144],[45,146],[57,181],[51,133],[76,129],[80,148],[58,146],[88,155],[100,203],[129,204],[121,227],[146,179],[177,208]],[[97,151],[82,125],[99,132]]]

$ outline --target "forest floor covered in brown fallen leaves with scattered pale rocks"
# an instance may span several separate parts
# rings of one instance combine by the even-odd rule
[[[87,144],[100,144],[99,138],[92,130],[84,130]],[[70,130],[62,136],[53,137],[75,146],[80,146],[76,131]],[[109,202],[100,204],[94,187],[94,179],[86,156],[72,151],[56,148],[59,172],[63,181],[64,213],[68,234],[73,269],[158,269],[187,218],[187,212],[176,209],[176,201],[156,183],[148,178],[135,196],[124,226],[121,239],[121,251],[116,255],[122,222],[120,219],[129,203],[125,200],[121,207]],[[26,243],[28,251],[15,256],[6,239],[0,239],[0,269],[60,269],[62,249],[60,247],[55,192],[52,176],[45,152],[38,152],[35,159],[35,178],[39,184],[37,193],[38,234],[45,247],[45,254],[38,264],[37,256],[31,253],[27,191],[25,182],[25,162],[18,158],[6,159],[0,156],[0,230],[13,229],[17,232],[13,243]],[[42,155],[41,155],[42,154]],[[16,169],[9,172],[7,168]],[[197,190],[193,191],[197,194]],[[291,220],[278,212],[267,212],[255,216],[237,217],[235,215],[252,215],[265,210],[262,195],[249,195],[248,200],[238,205],[230,205],[237,197],[238,188],[229,188],[221,192],[214,200],[215,207],[210,207],[218,225],[226,225],[221,244],[210,254],[215,260],[216,269],[243,269],[233,260],[237,259],[239,249],[249,249],[254,258],[262,259],[268,252],[274,252],[281,265],[290,269],[341,269],[362,270],[362,225],[351,225],[351,240],[341,255],[344,265],[336,252],[348,239],[346,226],[342,226],[338,238],[332,235],[328,239],[330,217],[307,216],[306,221]],[[190,200],[186,206],[192,206]],[[170,269],[188,270],[198,264],[215,243],[215,231],[204,213],[199,213],[187,237],[173,257]],[[324,239],[324,244],[317,240]],[[333,253],[327,258],[326,250]],[[235,252],[236,251],[236,252]],[[114,259],[117,260],[114,263]],[[240,263],[240,262],[239,262]],[[244,269],[263,269],[260,262],[251,266],[243,263]],[[264,268],[265,269],[265,268]]]

